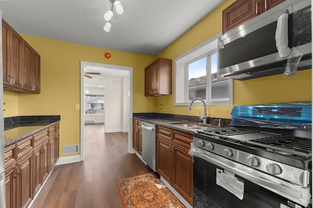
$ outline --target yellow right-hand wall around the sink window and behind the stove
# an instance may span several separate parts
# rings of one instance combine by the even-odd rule
[[[222,11],[235,0],[225,0],[221,6],[216,8],[202,21],[187,31],[178,40],[172,43],[158,56],[174,60],[192,48],[207,41],[211,37],[222,32]],[[264,78],[233,82],[233,104],[267,104],[293,101],[312,101],[312,69],[298,71],[294,77],[273,75]],[[173,70],[174,83],[174,70]],[[174,92],[174,84],[173,84]],[[163,109],[160,109],[160,105]],[[180,115],[199,116],[203,113],[203,106],[194,106],[192,111],[187,111],[188,106],[174,106],[174,94],[158,97],[156,101],[156,112],[173,113]],[[231,118],[232,105],[209,106],[207,113],[209,117]]]

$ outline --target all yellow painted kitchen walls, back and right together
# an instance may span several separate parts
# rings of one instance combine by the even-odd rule
[[[174,60],[222,31],[222,11],[235,0],[225,2],[187,31],[158,57]],[[41,94],[4,92],[4,117],[24,115],[61,115],[60,147],[80,143],[80,61],[133,67],[133,112],[158,112],[198,116],[202,106],[174,106],[173,95],[144,97],[144,68],[156,57],[112,49],[90,47],[69,42],[22,35],[41,55]],[[111,59],[104,54],[110,52]],[[234,104],[265,104],[289,101],[312,101],[312,69],[297,76],[274,75],[247,81],[234,81]],[[163,109],[159,108],[160,104]],[[232,106],[209,106],[208,116],[230,118]],[[60,148],[60,149],[61,149]],[[60,151],[62,153],[62,151]],[[62,156],[62,155],[61,155]]]

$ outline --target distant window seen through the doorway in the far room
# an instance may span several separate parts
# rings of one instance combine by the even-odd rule
[[[85,114],[104,114],[104,95],[86,95]]]

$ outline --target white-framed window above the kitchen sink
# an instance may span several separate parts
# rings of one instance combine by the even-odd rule
[[[217,75],[219,35],[175,60],[175,105],[195,98],[206,104],[232,104],[232,80]]]

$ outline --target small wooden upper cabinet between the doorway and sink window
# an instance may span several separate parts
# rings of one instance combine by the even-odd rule
[[[145,68],[145,96],[172,94],[172,60],[158,58]]]

